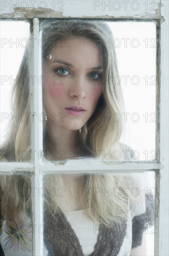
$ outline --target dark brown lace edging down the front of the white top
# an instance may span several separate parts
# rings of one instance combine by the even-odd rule
[[[55,214],[44,211],[44,243],[49,256],[84,256],[75,231],[61,209]],[[126,222],[109,229],[100,225],[97,243],[91,256],[117,256],[126,235]]]

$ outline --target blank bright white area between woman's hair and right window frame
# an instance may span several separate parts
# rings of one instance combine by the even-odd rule
[[[136,153],[134,160],[156,159],[156,22],[108,22],[114,34],[120,83],[125,100],[121,139]]]

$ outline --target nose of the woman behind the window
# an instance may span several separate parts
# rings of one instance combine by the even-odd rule
[[[69,96],[73,98],[86,98],[87,84],[82,75],[72,80],[69,87]]]

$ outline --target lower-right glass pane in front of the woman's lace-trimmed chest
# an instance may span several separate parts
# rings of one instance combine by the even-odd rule
[[[45,175],[43,196],[44,255],[154,255],[154,172]]]

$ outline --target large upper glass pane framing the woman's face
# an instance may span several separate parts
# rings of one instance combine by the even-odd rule
[[[156,23],[41,26],[44,158],[155,160]]]

